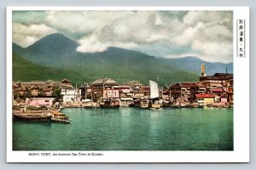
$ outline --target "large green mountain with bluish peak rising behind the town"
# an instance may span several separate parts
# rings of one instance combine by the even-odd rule
[[[148,80],[152,79],[164,85],[171,82],[198,81],[200,76],[200,72],[185,70],[184,65],[170,59],[113,47],[100,53],[79,53],[76,51],[78,46],[77,42],[58,33],[44,37],[27,48],[21,48],[14,43],[15,54],[22,56],[26,62],[29,61],[29,65],[34,65],[34,69],[37,67],[38,71],[30,73],[38,77],[21,76],[22,71],[14,72],[14,79],[18,77],[15,74],[20,75],[21,81],[48,77],[57,80],[67,77],[72,82],[93,82],[98,78],[112,77],[118,82],[137,80],[144,84],[148,84]],[[45,69],[55,71],[52,74],[42,74]],[[25,74],[26,71],[30,72],[31,68],[27,68]],[[49,76],[44,76],[45,74]]]

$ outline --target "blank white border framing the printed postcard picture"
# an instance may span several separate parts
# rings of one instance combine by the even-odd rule
[[[233,10],[234,150],[233,151],[14,151],[12,150],[13,10]],[[236,57],[236,20],[247,20],[246,58]],[[8,7],[7,8],[7,161],[8,162],[248,162],[249,161],[249,8],[247,7]],[[239,90],[237,90],[239,89]],[[48,153],[50,156],[48,156]],[[57,156],[54,156],[56,154]],[[60,156],[71,154],[71,156]],[[80,156],[79,156],[80,154]],[[31,155],[31,156],[29,156]],[[90,155],[90,156],[89,156]]]

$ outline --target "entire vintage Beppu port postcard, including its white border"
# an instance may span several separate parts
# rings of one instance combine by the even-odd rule
[[[8,7],[8,162],[248,162],[249,8]]]

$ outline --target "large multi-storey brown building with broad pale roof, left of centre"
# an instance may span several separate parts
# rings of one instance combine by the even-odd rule
[[[90,87],[92,100],[97,104],[100,104],[101,99],[119,99],[119,83],[111,78],[98,79]]]

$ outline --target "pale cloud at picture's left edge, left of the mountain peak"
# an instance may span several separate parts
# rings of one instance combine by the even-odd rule
[[[27,47],[52,33],[55,33],[55,30],[44,24],[25,26],[13,23],[13,42],[18,43],[21,47]]]

